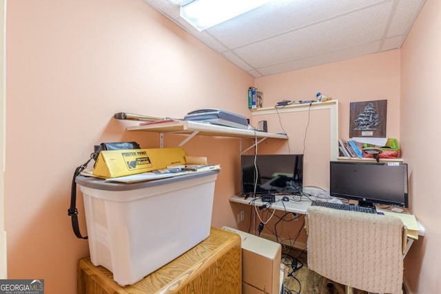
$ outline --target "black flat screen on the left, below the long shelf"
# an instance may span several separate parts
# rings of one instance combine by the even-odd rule
[[[242,155],[241,193],[298,193],[303,185],[303,154]]]

